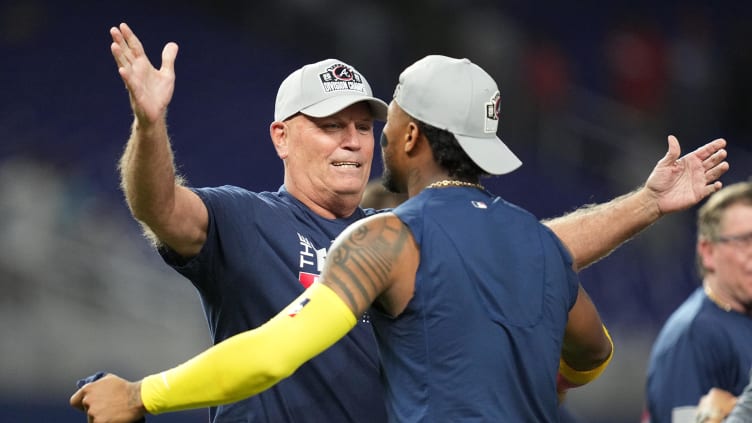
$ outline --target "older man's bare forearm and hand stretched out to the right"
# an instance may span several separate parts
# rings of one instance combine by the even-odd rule
[[[575,269],[581,270],[661,216],[687,209],[721,189],[718,178],[729,168],[725,147],[726,141],[719,138],[679,158],[679,141],[671,135],[668,152],[644,186],[543,223],[569,248]]]

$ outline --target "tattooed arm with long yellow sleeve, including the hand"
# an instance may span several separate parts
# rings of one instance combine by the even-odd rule
[[[76,392],[71,405],[93,421],[129,423],[146,412],[255,395],[345,336],[374,301],[399,314],[412,296],[418,257],[412,234],[395,215],[364,219],[332,245],[320,281],[263,326],[141,382],[108,375]]]

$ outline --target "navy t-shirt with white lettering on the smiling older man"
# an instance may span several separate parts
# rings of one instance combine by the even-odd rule
[[[165,261],[198,289],[215,343],[265,323],[320,274],[332,241],[372,209],[324,219],[278,192],[233,186],[194,190],[209,211],[206,243],[187,262]],[[210,409],[215,423],[386,420],[378,353],[368,316],[291,377],[246,400]]]

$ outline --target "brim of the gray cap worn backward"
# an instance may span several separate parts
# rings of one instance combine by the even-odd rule
[[[499,137],[475,138],[455,134],[455,138],[475,164],[491,175],[503,175],[522,165]]]

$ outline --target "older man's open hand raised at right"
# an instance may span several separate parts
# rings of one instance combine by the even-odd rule
[[[718,178],[729,169],[725,147],[719,138],[679,158],[679,140],[669,135],[668,152],[645,183],[661,214],[684,210],[721,189]]]

